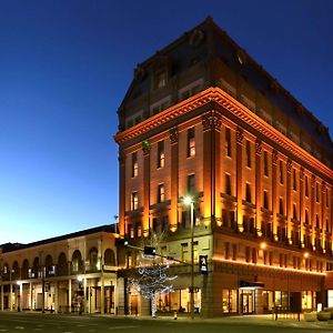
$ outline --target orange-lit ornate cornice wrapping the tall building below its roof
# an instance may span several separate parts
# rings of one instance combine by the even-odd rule
[[[162,124],[179,118],[183,114],[191,112],[198,108],[201,108],[210,102],[216,102],[221,107],[224,108],[228,112],[240,119],[241,121],[248,123],[254,131],[259,132],[261,135],[268,138],[269,140],[276,142],[279,147],[283,150],[291,153],[293,157],[302,160],[304,163],[309,164],[311,168],[316,170],[317,172],[326,175],[330,179],[333,179],[333,170],[327,165],[319,161],[316,158],[311,155],[295,142],[283,135],[272,125],[266,123],[259,115],[253,113],[246,107],[244,107],[241,102],[232,98],[230,94],[224,92],[220,88],[209,88],[192,98],[182,101],[171,108],[164,110],[163,112],[155,114],[145,121],[123,131],[119,132],[114,140],[119,144],[123,144],[129,140],[132,140],[143,133],[147,133],[153,129],[161,127]]]

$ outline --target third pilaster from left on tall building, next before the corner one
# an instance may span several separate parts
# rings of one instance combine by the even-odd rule
[[[178,198],[179,198],[179,133],[178,128],[169,131],[171,144],[171,211],[169,228],[175,231],[178,228]]]

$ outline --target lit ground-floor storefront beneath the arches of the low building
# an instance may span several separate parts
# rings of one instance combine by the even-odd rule
[[[115,314],[118,292],[115,273],[3,281],[0,309]]]

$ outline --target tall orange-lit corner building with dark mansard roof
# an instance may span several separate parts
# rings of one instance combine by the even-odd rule
[[[139,64],[118,112],[120,236],[158,234],[157,251],[180,261],[160,311],[190,312],[191,291],[206,317],[327,304],[329,131],[212,19]],[[124,279],[139,262],[125,255]]]

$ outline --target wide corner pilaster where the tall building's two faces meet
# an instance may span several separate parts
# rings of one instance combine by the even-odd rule
[[[208,223],[221,219],[221,127],[216,111],[202,115],[203,129],[203,216]]]

